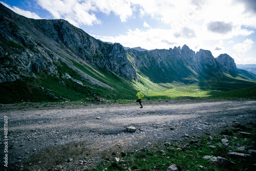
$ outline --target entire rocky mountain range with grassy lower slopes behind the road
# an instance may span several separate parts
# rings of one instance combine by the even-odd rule
[[[95,39],[63,19],[30,19],[0,4],[0,103],[101,96],[133,99],[183,84],[232,90],[256,76],[227,54],[182,48],[138,51]],[[232,82],[228,84],[227,82]]]

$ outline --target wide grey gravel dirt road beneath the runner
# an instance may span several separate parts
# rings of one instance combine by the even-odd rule
[[[135,103],[17,108],[0,107],[1,118],[8,117],[9,170],[86,169],[99,161],[112,160],[122,151],[177,141],[185,135],[215,135],[233,121],[255,123],[256,118],[255,100],[173,99],[144,102],[143,109]],[[3,119],[0,124],[4,125]],[[137,131],[127,132],[129,126]],[[2,149],[1,156],[3,153]],[[66,160],[72,161],[63,165]]]

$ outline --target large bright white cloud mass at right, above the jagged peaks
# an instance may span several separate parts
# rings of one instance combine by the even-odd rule
[[[233,3],[233,0],[130,0],[129,2],[138,8],[141,16],[151,16],[169,24],[172,29],[129,30],[125,34],[115,37],[105,36],[103,39],[120,42],[131,47],[141,46],[146,49],[153,49],[154,47],[168,49],[172,47],[171,45],[182,46],[186,44],[190,48],[198,47],[224,52],[225,45],[212,45],[212,43],[206,45],[205,42],[228,40],[235,36],[250,36],[254,31],[249,30],[249,27],[256,28],[256,15],[244,13],[245,6],[241,2]],[[248,26],[247,29],[243,29],[244,26]],[[145,39],[142,35],[146,35],[147,38]],[[133,38],[131,39],[131,37]],[[99,38],[102,37],[99,36]],[[196,50],[199,49],[196,48]]]

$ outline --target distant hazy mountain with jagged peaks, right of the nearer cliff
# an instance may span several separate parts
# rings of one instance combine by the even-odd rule
[[[195,83],[209,79],[229,79],[230,76],[255,80],[255,75],[241,72],[234,60],[227,54],[217,58],[210,51],[200,49],[195,53],[186,45],[169,50],[153,50],[138,52],[127,50],[127,54],[134,60],[134,68],[156,83]],[[204,86],[205,87],[205,86]]]

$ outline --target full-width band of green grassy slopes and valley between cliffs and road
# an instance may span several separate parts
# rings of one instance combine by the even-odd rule
[[[67,58],[66,58],[67,59]],[[137,89],[141,89],[145,98],[168,99],[180,96],[190,97],[255,97],[255,81],[248,81],[242,78],[234,79],[230,75],[212,74],[208,79],[192,86],[179,82],[154,83],[150,78],[142,73],[138,74],[140,82],[130,82],[124,80],[103,68],[88,67],[83,63],[68,59],[73,65],[91,77],[108,84],[114,90],[99,87],[84,80],[76,71],[69,68],[66,63],[55,63],[58,67],[59,75],[68,73],[74,79],[79,80],[84,86],[72,81],[56,76],[49,76],[45,73],[35,73],[39,79],[26,78],[13,82],[0,83],[0,103],[16,103],[22,101],[71,101],[100,96],[105,99],[136,99]],[[103,75],[103,76],[102,76]],[[217,76],[217,78],[216,78]],[[254,86],[251,88],[246,88]],[[234,90],[244,88],[242,90]],[[219,93],[215,90],[230,92]]]

